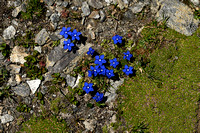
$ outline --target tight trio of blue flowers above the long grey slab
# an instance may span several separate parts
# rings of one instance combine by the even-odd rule
[[[66,39],[68,38],[67,41],[64,41],[64,49],[68,49],[69,51],[71,51],[72,47],[74,46],[73,42],[75,40],[79,41],[81,35],[81,32],[77,32],[76,29],[74,29],[72,32],[70,30],[71,27],[68,28],[63,27],[60,32],[60,35],[64,36],[64,38]]]

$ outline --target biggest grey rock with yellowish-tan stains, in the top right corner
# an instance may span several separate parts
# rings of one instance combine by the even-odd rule
[[[162,1],[156,17],[158,21],[166,20],[169,28],[186,36],[191,36],[199,24],[199,20],[194,19],[192,10],[176,0]]]

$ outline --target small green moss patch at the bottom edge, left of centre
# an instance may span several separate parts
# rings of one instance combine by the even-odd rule
[[[66,133],[67,126],[64,121],[59,121],[56,117],[36,118],[32,117],[29,121],[22,124],[20,132],[27,133]]]

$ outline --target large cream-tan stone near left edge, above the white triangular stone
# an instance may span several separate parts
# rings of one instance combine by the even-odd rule
[[[10,61],[13,63],[21,63],[24,64],[26,60],[24,57],[28,56],[27,53],[25,53],[25,48],[22,46],[15,46],[12,50],[12,53],[10,55]]]

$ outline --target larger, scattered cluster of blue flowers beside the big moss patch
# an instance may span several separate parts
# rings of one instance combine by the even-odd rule
[[[122,43],[122,37],[119,35],[115,35],[114,37],[112,37],[112,39],[114,41],[114,44]],[[90,47],[87,54],[94,55],[94,52],[95,52],[95,50]],[[130,51],[124,52],[123,54],[124,54],[123,59],[127,59],[128,61],[130,61],[131,58],[133,57],[133,55],[130,53]],[[116,68],[117,65],[119,65],[117,58],[110,59],[109,62],[110,62],[110,66],[113,68]],[[90,70],[88,70],[88,77],[92,77],[92,75],[94,75],[95,77],[97,75],[103,75],[103,76],[107,76],[110,79],[115,76],[113,69],[109,70],[109,69],[106,69],[106,67],[104,66],[104,64],[106,63],[106,60],[104,59],[104,55],[95,56],[94,63],[96,64],[96,66],[90,66]],[[125,65],[123,72],[126,75],[133,74],[133,67]],[[83,90],[88,94],[89,92],[94,91],[92,86],[93,86],[93,83],[85,82]],[[96,102],[102,101],[103,93],[97,92],[96,95],[93,97],[93,99],[95,99]]]

